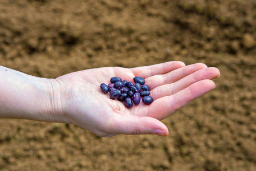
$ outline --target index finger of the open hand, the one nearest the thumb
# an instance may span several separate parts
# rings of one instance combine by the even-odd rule
[[[212,80],[201,80],[193,83],[189,87],[182,89],[171,96],[164,96],[153,101],[148,108],[147,116],[156,119],[164,119],[178,109],[184,107],[190,101],[197,99],[215,87]]]

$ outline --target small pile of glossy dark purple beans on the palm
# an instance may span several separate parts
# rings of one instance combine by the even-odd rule
[[[145,85],[144,78],[136,76],[133,80],[135,84],[127,82],[127,80],[122,81],[115,76],[111,78],[111,83],[108,86],[104,83],[100,84],[100,89],[104,93],[109,92],[110,99],[124,101],[127,108],[131,108],[133,103],[140,104],[141,97],[144,104],[151,104],[153,102],[153,98],[149,96],[151,88]]]

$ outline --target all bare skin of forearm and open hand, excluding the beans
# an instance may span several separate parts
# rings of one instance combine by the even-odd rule
[[[125,108],[100,91],[113,76],[145,78],[154,101]],[[103,67],[72,72],[56,79],[38,78],[0,66],[0,117],[72,123],[99,136],[167,136],[160,120],[216,86],[220,71],[205,64],[166,62],[137,68]]]

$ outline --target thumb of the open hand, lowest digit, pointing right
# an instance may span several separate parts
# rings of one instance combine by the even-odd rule
[[[155,134],[168,136],[168,128],[161,121],[152,117],[117,116],[109,131],[126,135]]]

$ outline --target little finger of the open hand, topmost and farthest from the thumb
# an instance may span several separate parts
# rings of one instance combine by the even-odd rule
[[[152,66],[131,68],[131,70],[135,76],[148,78],[149,76],[165,74],[184,66],[186,66],[184,62],[170,61],[170,62],[155,64]]]

